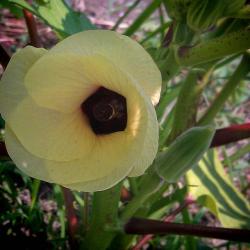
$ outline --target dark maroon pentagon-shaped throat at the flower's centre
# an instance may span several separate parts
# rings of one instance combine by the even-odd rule
[[[100,87],[81,105],[95,134],[111,134],[127,126],[126,98],[112,90]]]

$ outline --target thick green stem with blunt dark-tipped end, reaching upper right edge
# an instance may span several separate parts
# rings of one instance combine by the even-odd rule
[[[194,47],[182,46],[176,50],[181,66],[194,66],[213,61],[250,48],[250,29],[241,29],[224,36],[202,42]]]

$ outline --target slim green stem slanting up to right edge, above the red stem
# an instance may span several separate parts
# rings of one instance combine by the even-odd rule
[[[216,114],[223,107],[223,105],[226,102],[226,100],[228,99],[228,97],[235,91],[236,87],[238,86],[238,83],[242,79],[244,79],[244,77],[250,71],[249,65],[250,65],[250,55],[245,54],[243,56],[240,64],[239,64],[239,66],[237,67],[237,69],[235,70],[235,72],[233,73],[231,78],[228,80],[226,85],[223,87],[220,94],[216,97],[216,99],[214,100],[212,105],[209,107],[209,109],[206,111],[206,113],[200,119],[200,121],[198,123],[199,125],[203,126],[203,125],[207,125],[210,122],[212,122],[212,120],[214,119]]]

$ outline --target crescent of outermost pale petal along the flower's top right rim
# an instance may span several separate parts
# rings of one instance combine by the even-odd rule
[[[154,105],[159,101],[160,71],[145,49],[127,36],[108,30],[84,31],[58,43],[50,53],[103,55],[136,79]]]

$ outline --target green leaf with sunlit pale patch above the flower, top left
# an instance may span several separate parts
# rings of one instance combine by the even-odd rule
[[[63,0],[48,1],[34,6],[24,0],[10,0],[10,2],[40,17],[61,37],[67,37],[83,30],[96,29],[84,14],[73,11]]]

